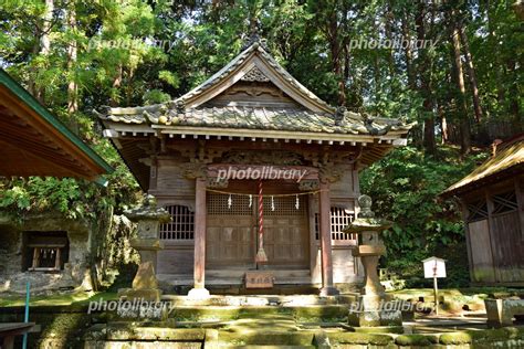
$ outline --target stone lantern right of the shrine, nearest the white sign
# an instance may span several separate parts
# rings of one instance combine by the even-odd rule
[[[358,204],[360,205],[358,218],[344,229],[345,233],[358,234],[358,246],[354,250],[354,256],[360,257],[365,273],[365,284],[356,300],[358,306],[349,308],[349,325],[401,326],[402,314],[400,309],[387,306],[386,303],[391,299],[387,297],[377,273],[378,260],[386,254],[386,247],[378,233],[390,228],[392,223],[375,218],[371,211],[371,198],[368,195],[360,195]]]

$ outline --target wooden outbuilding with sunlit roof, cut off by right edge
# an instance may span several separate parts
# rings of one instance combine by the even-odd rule
[[[471,282],[524,286],[524,134],[443,193],[460,199]]]

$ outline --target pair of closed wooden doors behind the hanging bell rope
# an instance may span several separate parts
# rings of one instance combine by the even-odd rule
[[[256,195],[208,195],[207,268],[251,268],[256,254]],[[264,250],[270,268],[308,268],[310,230],[305,195],[264,198]]]

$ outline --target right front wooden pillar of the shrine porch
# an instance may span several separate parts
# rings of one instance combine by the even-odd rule
[[[329,183],[321,181],[318,200],[318,228],[321,232],[322,289],[321,296],[337,295],[333,285],[332,231]]]

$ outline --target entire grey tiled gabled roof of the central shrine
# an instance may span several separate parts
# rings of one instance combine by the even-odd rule
[[[207,104],[240,81],[270,82],[297,106]],[[175,101],[144,107],[107,107],[97,114],[107,121],[180,131],[186,127],[342,135],[385,135],[391,131],[399,137],[412,127],[412,124],[398,119],[336,110],[291,76],[258,41],[201,85]]]

